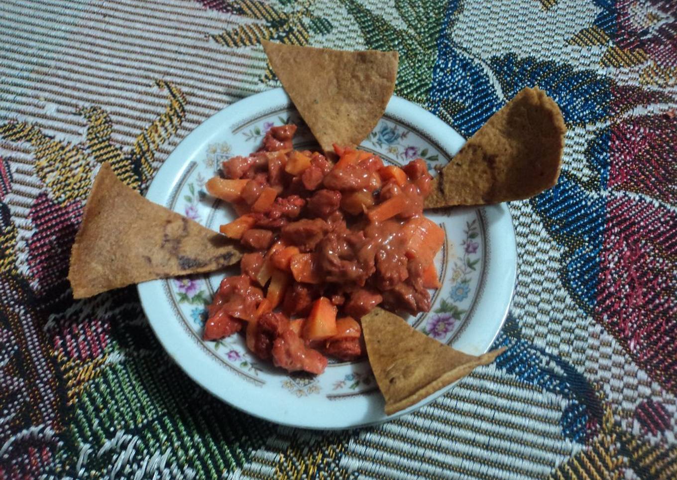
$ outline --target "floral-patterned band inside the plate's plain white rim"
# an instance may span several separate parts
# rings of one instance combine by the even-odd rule
[[[235,132],[240,141],[239,147],[235,141],[217,141],[209,144],[202,156],[202,161],[196,162],[188,177],[179,186],[179,190],[173,197],[171,208],[176,209],[178,206],[179,212],[183,215],[206,224],[213,230],[218,230],[219,221],[214,215],[213,199],[209,198],[204,191],[204,183],[213,175],[213,171],[219,168],[223,160],[238,154],[246,155],[256,150],[270,127],[285,125],[290,121],[299,121],[299,116],[294,110],[273,112],[248,122]],[[301,123],[297,135],[294,136],[294,144],[305,146],[312,141],[313,137],[309,130],[305,124]],[[395,119],[387,117],[382,118],[376,125],[374,131],[364,142],[364,146],[382,156],[386,162],[395,165],[402,165],[420,156],[426,158],[430,168],[440,161],[439,150],[430,141],[416,131],[404,127]],[[217,206],[216,214],[227,208],[223,204]],[[438,271],[441,272],[441,283],[446,286],[453,284],[453,286],[441,288],[433,301],[431,313],[422,313],[418,320],[420,330],[445,343],[450,343],[464,324],[467,313],[475,301],[475,292],[481,280],[481,272],[477,268],[481,264],[483,252],[483,238],[479,228],[481,219],[479,215],[473,216],[473,219],[466,221],[462,236],[452,238],[458,228],[454,228],[451,237],[450,232],[447,232],[447,247],[435,261]],[[435,220],[440,224],[447,221],[445,215]],[[452,245],[459,245],[460,249],[452,248]],[[458,253],[456,250],[459,250]],[[209,279],[204,276],[175,280],[170,283],[170,286],[177,298],[179,311],[186,319],[185,324],[196,336],[200,337],[205,313],[198,306],[204,308],[205,305],[209,305],[213,291],[217,288],[217,282],[210,284]],[[210,348],[222,362],[242,374],[253,374],[263,378],[261,372],[276,371],[272,366],[264,365],[264,362],[260,362],[257,357],[249,353],[244,347],[244,341],[237,334],[222,341],[205,342],[205,344],[211,346]],[[329,369],[345,368],[346,365],[346,362],[330,364]],[[371,391],[374,384],[370,380],[370,375],[372,374],[369,370],[362,372],[353,368],[335,380],[332,385],[324,386],[321,383],[313,383],[313,387],[309,390],[297,385],[301,380],[294,380],[297,383],[292,382],[293,388],[290,387],[292,383],[285,383],[284,386],[294,395],[301,395],[300,391],[308,394],[325,390],[332,396],[340,396],[341,393],[355,394],[360,391]],[[349,380],[349,378],[354,378],[354,380]]]

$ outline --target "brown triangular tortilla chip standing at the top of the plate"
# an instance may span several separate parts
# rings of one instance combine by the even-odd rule
[[[325,152],[354,147],[383,116],[395,89],[397,51],[339,51],[263,41],[282,86]]]

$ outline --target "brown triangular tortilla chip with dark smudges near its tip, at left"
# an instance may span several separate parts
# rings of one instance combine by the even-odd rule
[[[75,299],[129,284],[214,271],[242,253],[225,236],[142,197],[104,163],[70,252]]]

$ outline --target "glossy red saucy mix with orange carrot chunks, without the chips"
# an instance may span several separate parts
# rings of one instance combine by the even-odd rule
[[[400,168],[334,145],[332,163],[292,150],[295,130],[272,127],[261,150],[226,160],[223,178],[206,183],[240,215],[221,233],[246,253],[242,275],[221,282],[203,338],[243,330],[261,359],[320,374],[324,355],[364,355],[359,320],[377,305],[430,309],[445,234],[423,215],[432,183],[424,160]]]

